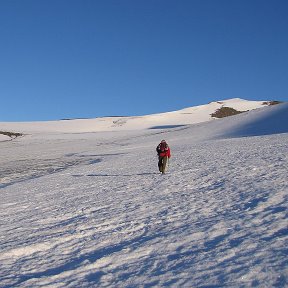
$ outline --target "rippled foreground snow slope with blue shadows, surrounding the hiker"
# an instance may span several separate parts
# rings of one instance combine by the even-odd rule
[[[176,124],[0,142],[0,287],[287,286],[287,104]]]

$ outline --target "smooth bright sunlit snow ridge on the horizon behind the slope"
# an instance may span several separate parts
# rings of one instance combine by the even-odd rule
[[[266,102],[267,103],[267,102]],[[47,122],[1,123],[0,130],[21,133],[83,133],[101,131],[141,130],[149,128],[190,125],[213,120],[211,114],[221,107],[231,107],[237,111],[263,108],[264,101],[248,101],[239,98],[211,102],[178,111],[131,117],[102,117],[95,119],[75,119]]]

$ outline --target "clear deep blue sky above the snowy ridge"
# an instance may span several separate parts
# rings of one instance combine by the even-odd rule
[[[287,0],[1,0],[0,121],[288,100]]]

